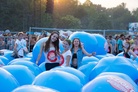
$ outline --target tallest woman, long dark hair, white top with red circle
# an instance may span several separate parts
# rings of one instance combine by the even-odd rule
[[[38,64],[42,52],[44,51],[45,55],[45,67],[46,70],[50,70],[56,66],[59,66],[60,58],[59,57],[59,33],[54,31],[49,36],[48,40],[42,43],[36,64]]]

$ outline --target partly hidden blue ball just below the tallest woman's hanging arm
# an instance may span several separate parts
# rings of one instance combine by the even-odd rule
[[[38,74],[40,74],[42,72],[42,70],[34,63],[30,62],[30,61],[17,61],[17,62],[12,62],[10,63],[10,65],[23,65],[28,67],[29,70],[31,70],[31,72],[37,76]]]

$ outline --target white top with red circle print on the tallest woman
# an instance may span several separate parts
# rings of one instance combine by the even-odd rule
[[[57,63],[59,62],[58,56],[55,55],[55,48],[50,47],[48,52],[44,52],[46,63]]]

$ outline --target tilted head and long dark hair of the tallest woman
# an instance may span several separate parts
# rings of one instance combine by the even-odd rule
[[[50,43],[52,43],[57,52],[59,52],[59,33],[53,31],[46,41],[45,51],[47,51],[50,47]]]

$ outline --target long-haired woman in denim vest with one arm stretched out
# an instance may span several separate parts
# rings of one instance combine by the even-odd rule
[[[75,67],[76,69],[81,66],[81,61],[82,61],[82,58],[83,58],[84,54],[89,56],[89,57],[94,56],[96,54],[95,52],[88,53],[84,49],[84,46],[80,42],[79,38],[74,38],[73,39],[71,52],[72,52],[71,66]],[[77,66],[76,66],[76,64],[77,64]]]

